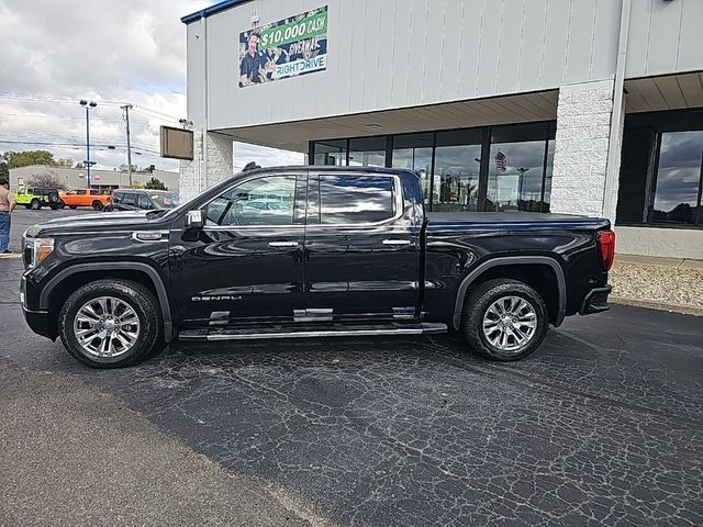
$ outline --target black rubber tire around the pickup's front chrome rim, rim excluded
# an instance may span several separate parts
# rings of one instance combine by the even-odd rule
[[[101,296],[118,299],[132,307],[140,324],[134,344],[115,357],[101,357],[88,351],[78,341],[74,328],[79,310],[87,302]],[[161,311],[152,292],[127,280],[97,280],[82,285],[65,302],[58,318],[58,330],[66,350],[76,360],[92,368],[123,368],[157,355],[165,346],[161,325]],[[99,343],[100,337],[96,336],[92,341]],[[115,344],[119,345],[116,340]]]

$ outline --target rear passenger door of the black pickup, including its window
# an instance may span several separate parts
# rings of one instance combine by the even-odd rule
[[[420,228],[395,175],[310,175],[306,315],[322,319],[416,316]]]

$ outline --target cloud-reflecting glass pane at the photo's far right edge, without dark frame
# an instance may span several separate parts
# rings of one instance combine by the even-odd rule
[[[651,221],[696,223],[703,131],[661,134]]]

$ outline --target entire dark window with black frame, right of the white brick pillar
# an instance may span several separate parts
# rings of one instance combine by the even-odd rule
[[[628,114],[618,225],[703,226],[703,111]]]

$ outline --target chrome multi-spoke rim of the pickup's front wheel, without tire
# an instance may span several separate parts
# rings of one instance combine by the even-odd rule
[[[74,335],[94,357],[119,357],[140,338],[140,317],[126,302],[100,296],[86,302],[74,318]]]

